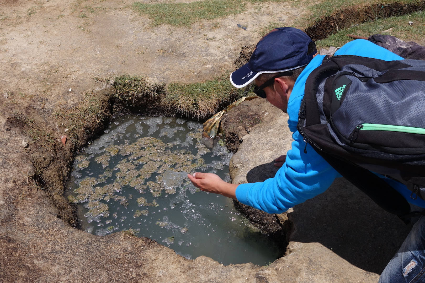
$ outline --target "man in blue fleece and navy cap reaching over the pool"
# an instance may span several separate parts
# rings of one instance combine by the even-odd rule
[[[403,58],[364,39],[348,42],[335,55],[357,55],[385,61]],[[229,184],[215,174],[188,175],[202,191],[218,193],[266,211],[282,213],[326,191],[341,175],[303,140],[297,131],[298,112],[309,74],[323,61],[317,55],[312,40],[295,28],[277,28],[266,34],[257,44],[247,64],[233,72],[230,81],[244,87],[255,81],[255,92],[289,115],[289,129],[293,132],[292,149],[280,156],[275,165],[281,168],[274,178],[261,183]],[[283,163],[284,161],[284,163]],[[380,176],[385,179],[385,176]],[[425,201],[410,198],[411,191],[392,179],[385,179],[409,203],[425,208]],[[423,231],[422,231],[423,230]],[[425,282],[425,218],[415,224],[397,255],[381,275],[380,282]],[[422,268],[424,268],[422,270]],[[422,278],[423,277],[423,278]],[[422,281],[421,281],[422,278]],[[418,281],[419,280],[419,281]],[[413,281],[412,281],[413,282]]]

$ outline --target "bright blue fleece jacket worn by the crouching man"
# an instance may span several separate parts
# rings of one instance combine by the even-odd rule
[[[335,55],[358,55],[382,59],[385,61],[402,60],[403,58],[369,42],[365,39],[357,39],[348,42],[340,48]],[[294,88],[288,101],[288,125],[294,141],[292,149],[286,154],[286,161],[276,173],[274,178],[267,179],[261,183],[241,184],[236,188],[236,198],[245,205],[266,211],[267,213],[282,213],[294,205],[305,202],[320,193],[326,191],[334,182],[334,179],[341,175],[329,165],[316,151],[308,144],[307,153],[304,153],[306,143],[297,131],[298,111],[301,100],[304,97],[304,87],[309,74],[317,68],[323,61],[324,56],[317,55],[306,66],[300,76],[295,81]],[[276,152],[276,156],[282,154]],[[381,178],[384,176],[379,175]],[[391,179],[385,179],[408,202],[425,207],[422,199],[411,199],[411,191],[405,185]]]

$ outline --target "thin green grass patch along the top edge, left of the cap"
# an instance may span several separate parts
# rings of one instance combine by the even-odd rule
[[[134,11],[153,20],[152,25],[190,27],[199,20],[213,20],[246,10],[247,3],[283,2],[285,0],[201,0],[192,3],[145,4],[135,2]]]

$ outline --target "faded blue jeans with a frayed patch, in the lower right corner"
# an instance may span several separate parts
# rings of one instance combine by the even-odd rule
[[[425,216],[413,225],[397,254],[379,278],[379,283],[425,282]]]

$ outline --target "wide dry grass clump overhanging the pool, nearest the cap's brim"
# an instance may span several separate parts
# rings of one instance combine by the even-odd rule
[[[188,117],[200,119],[215,114],[220,104],[231,103],[245,93],[244,89],[233,87],[226,76],[200,83],[170,83],[164,102]]]

